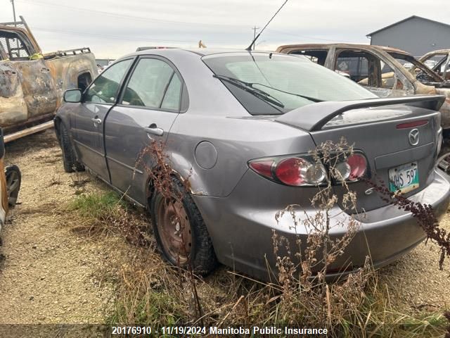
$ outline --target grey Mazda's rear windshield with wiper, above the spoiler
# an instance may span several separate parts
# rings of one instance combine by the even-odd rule
[[[303,56],[213,54],[203,61],[252,115],[279,115],[319,101],[377,97]]]

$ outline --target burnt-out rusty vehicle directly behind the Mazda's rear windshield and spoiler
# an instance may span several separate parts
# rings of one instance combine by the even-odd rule
[[[303,55],[311,61],[347,74],[379,97],[439,94],[442,127],[450,129],[450,81],[400,49],[366,44],[288,44],[279,53]],[[406,68],[403,65],[411,65]]]

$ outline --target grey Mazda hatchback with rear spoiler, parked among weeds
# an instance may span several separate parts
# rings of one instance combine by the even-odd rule
[[[311,198],[328,169],[309,151],[342,136],[356,149],[340,170],[357,194],[361,227],[329,273],[357,270],[368,254],[385,265],[424,239],[411,213],[361,178],[392,183],[392,192],[432,205],[440,218],[450,189],[435,167],[443,100],[379,99],[304,57],[153,49],[118,59],[84,92],[65,92],[55,127],[65,170],[88,168],[146,208],[167,261],[204,274],[220,262],[265,280],[276,270],[273,230],[291,243],[297,235],[305,243],[309,232],[289,218],[277,223],[276,213],[292,204],[302,207],[300,218],[316,213]],[[174,180],[190,182],[182,203],[165,203],[139,163],[152,140],[164,144]],[[334,189],[344,192],[339,183]],[[342,204],[330,213],[332,225],[349,219]],[[335,226],[330,235],[345,231]]]

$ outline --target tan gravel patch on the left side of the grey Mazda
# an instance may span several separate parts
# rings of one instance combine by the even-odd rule
[[[8,144],[6,152],[23,176],[20,204],[1,234],[0,323],[103,323],[114,288],[102,274],[117,256],[117,239],[70,231],[61,206],[74,198],[79,174],[64,173],[53,130]],[[84,189],[102,185],[90,178]]]

